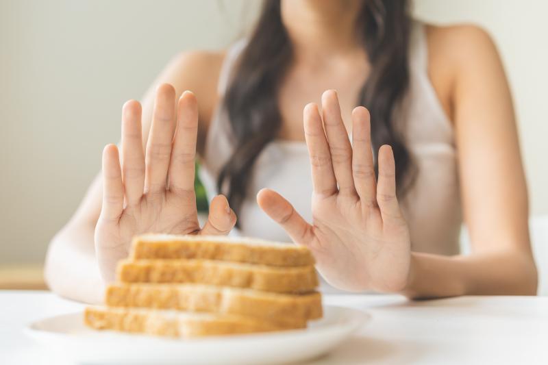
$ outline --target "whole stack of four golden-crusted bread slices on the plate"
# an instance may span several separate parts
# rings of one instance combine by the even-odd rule
[[[192,338],[305,328],[321,318],[314,258],[306,247],[251,238],[136,236],[105,306],[87,307],[95,329]]]

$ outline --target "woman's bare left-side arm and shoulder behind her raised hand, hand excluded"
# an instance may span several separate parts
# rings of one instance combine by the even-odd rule
[[[217,100],[216,82],[223,54],[192,52],[175,57],[155,80],[142,105],[142,147],[146,148],[153,119],[155,89],[169,83],[178,98],[186,89],[200,97],[198,151],[203,149],[209,118]],[[99,174],[86,192],[77,212],[49,244],[45,279],[54,292],[79,301],[99,302],[103,279],[95,255],[94,232],[101,213],[102,176]]]

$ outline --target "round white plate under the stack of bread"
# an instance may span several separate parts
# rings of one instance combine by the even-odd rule
[[[82,312],[45,318],[27,333],[52,351],[86,364],[267,364],[297,362],[334,349],[371,316],[346,307],[324,307],[307,329],[177,340],[95,331]]]

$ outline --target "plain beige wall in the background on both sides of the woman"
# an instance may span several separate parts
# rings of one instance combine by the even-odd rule
[[[257,3],[0,0],[0,264],[42,260],[99,170],[103,145],[119,139],[123,101],[139,99],[178,51],[225,47]],[[416,1],[420,16],[474,21],[495,36],[536,213],[548,212],[547,12],[541,0]]]

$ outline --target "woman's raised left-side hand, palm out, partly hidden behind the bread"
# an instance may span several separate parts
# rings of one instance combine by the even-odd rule
[[[236,215],[222,195],[210,204],[208,222],[200,229],[194,191],[197,101],[184,92],[158,88],[146,153],[142,148],[141,107],[123,106],[121,158],[109,144],[103,151],[103,205],[95,228],[99,269],[107,282],[116,262],[127,257],[130,241],[146,232],[228,234]]]

